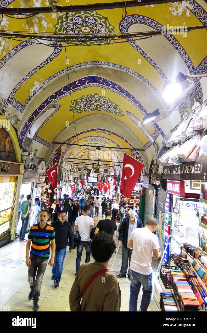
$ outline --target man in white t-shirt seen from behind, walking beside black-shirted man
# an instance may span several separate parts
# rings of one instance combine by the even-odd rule
[[[75,276],[79,270],[79,267],[81,266],[81,256],[83,252],[83,248],[86,249],[86,260],[85,262],[90,261],[91,257],[91,249],[90,249],[90,232],[91,229],[94,227],[94,220],[92,217],[88,216],[91,211],[91,207],[88,205],[85,205],[83,207],[83,215],[77,217],[74,227],[74,234],[76,233],[77,229],[81,236],[81,242],[77,246],[77,257],[76,257],[76,273]]]

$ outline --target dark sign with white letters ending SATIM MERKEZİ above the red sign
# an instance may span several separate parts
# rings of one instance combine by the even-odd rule
[[[197,157],[194,162],[164,166],[163,179],[207,180],[207,155]]]

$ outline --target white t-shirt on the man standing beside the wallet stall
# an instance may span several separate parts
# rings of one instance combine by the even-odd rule
[[[133,251],[131,254],[130,269],[149,275],[152,273],[152,252],[159,248],[158,238],[147,228],[136,228],[132,234]]]

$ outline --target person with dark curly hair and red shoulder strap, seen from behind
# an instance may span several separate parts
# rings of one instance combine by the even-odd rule
[[[98,232],[91,242],[93,263],[80,266],[71,288],[71,311],[120,311],[121,292],[117,278],[106,267],[115,250],[112,236]]]

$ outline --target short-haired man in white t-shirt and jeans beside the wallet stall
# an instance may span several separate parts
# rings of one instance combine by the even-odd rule
[[[157,228],[157,219],[148,218],[144,228],[136,228],[130,237],[128,247],[133,248],[130,263],[129,311],[137,311],[137,300],[142,285],[142,299],[139,311],[147,311],[152,294],[152,256],[158,259],[158,238],[153,232]],[[153,252],[153,253],[152,253]]]

